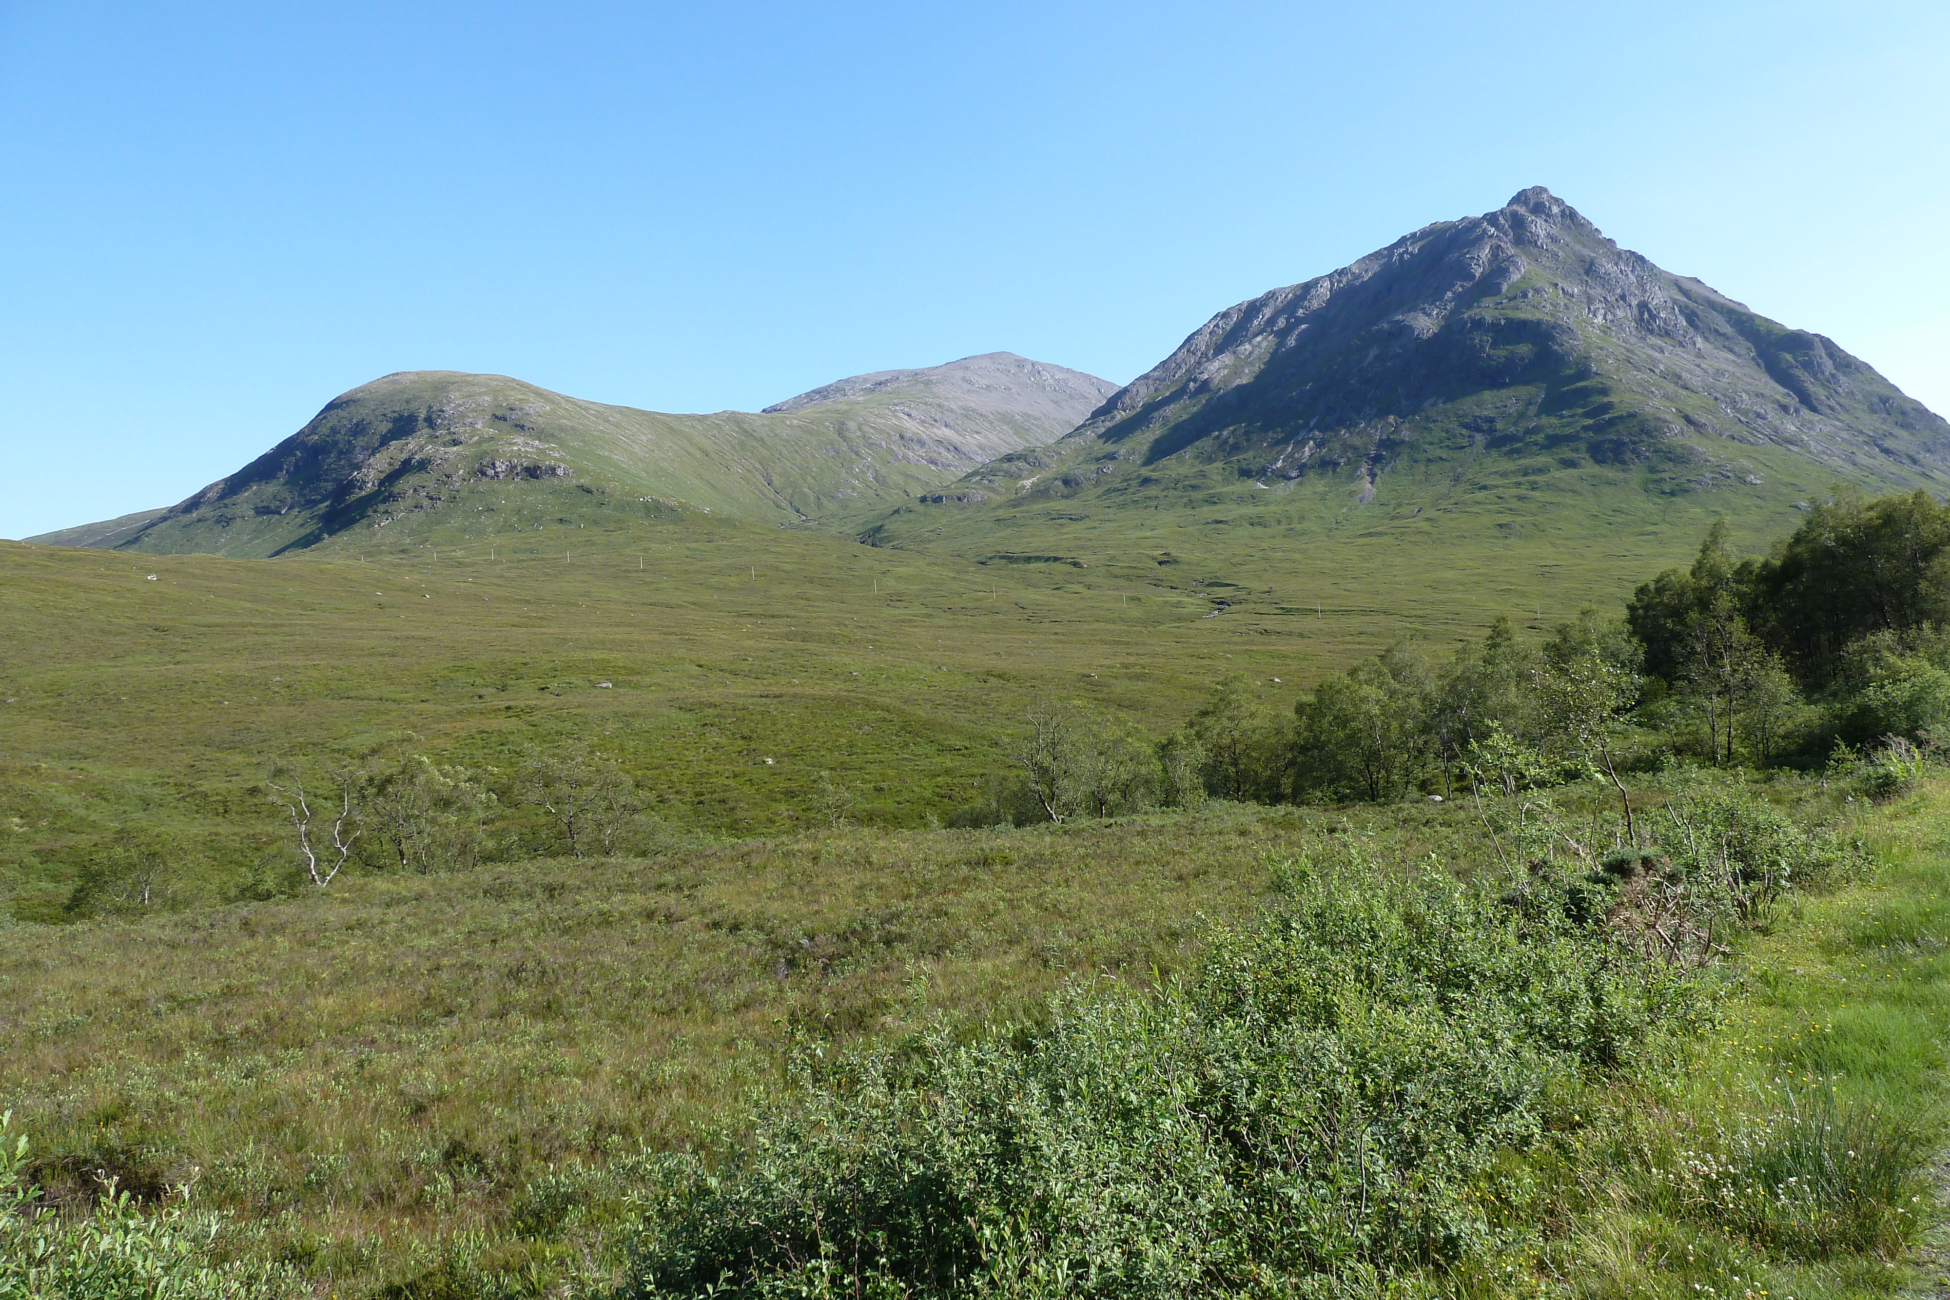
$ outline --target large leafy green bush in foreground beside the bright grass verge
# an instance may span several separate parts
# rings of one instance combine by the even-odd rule
[[[1484,1193],[1550,1097],[1698,1006],[1562,910],[1365,863],[1277,879],[1152,994],[801,1052],[749,1140],[642,1199],[632,1294],[1310,1294],[1441,1267],[1494,1243]]]

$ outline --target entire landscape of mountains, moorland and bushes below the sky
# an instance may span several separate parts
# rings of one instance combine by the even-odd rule
[[[1899,1294],[1946,491],[1542,189],[1123,388],[355,388],[0,542],[0,1294]]]

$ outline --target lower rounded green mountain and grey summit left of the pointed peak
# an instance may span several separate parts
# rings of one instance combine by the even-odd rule
[[[595,503],[803,520],[1055,440],[1113,386],[1012,353],[827,384],[760,413],[661,415],[499,374],[415,370],[333,398],[191,499],[33,542],[275,555],[349,534],[488,538]]]

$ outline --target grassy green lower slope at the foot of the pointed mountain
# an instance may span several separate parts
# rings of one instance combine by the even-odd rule
[[[1847,485],[1774,448],[1741,452],[1739,468],[1759,485],[1671,491],[1648,468],[1404,452],[1371,493],[1330,476],[1242,478],[1228,464],[1164,464],[1092,485],[1053,454],[1032,454],[1002,466],[1037,479],[1014,499],[967,505],[934,493],[942,501],[930,495],[862,520],[862,536],[987,571],[1059,567],[1164,585],[1225,608],[1221,620],[1250,612],[1269,630],[1306,635],[1336,610],[1433,616],[1480,600],[1535,612],[1540,598],[1548,612],[1630,591],[1714,518],[1761,550],[1796,526],[1796,503]],[[1043,491],[1045,479],[1055,489]],[[1422,633],[1437,639],[1449,628],[1435,616]]]

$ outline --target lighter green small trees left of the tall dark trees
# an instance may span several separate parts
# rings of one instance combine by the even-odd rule
[[[1595,614],[1529,645],[1507,618],[1435,661],[1398,643],[1320,682],[1291,717],[1228,674],[1184,727],[1147,743],[1125,721],[1045,700],[1014,746],[1012,778],[956,824],[1065,822],[1207,799],[1303,803],[1453,797],[1560,774],[1613,774],[1618,717],[1636,698],[1638,655]]]

